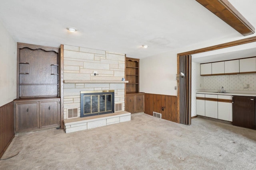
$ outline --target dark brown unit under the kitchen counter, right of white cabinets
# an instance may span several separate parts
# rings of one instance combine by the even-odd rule
[[[255,129],[255,97],[233,97],[233,125]]]

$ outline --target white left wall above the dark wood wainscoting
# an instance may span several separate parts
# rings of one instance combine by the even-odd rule
[[[0,106],[16,99],[17,43],[0,21]]]

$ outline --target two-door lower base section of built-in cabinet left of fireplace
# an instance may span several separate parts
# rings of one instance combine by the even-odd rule
[[[14,100],[16,132],[60,127],[60,99]]]

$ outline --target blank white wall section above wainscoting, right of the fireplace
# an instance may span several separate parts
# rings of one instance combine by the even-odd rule
[[[177,53],[140,59],[140,92],[177,95]]]

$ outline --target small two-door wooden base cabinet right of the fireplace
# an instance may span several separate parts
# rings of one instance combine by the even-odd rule
[[[144,93],[126,94],[126,111],[138,113],[144,111]]]

